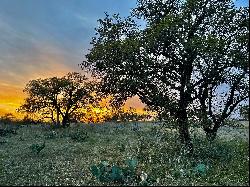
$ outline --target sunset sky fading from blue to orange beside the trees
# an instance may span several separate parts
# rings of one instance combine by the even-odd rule
[[[0,115],[14,112],[25,84],[81,71],[97,20],[129,15],[136,0],[0,0]],[[236,1],[249,6],[248,0]],[[138,99],[129,106],[143,108]]]

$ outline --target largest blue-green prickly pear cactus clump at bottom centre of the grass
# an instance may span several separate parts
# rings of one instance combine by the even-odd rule
[[[100,182],[113,182],[128,184],[136,180],[136,159],[126,160],[126,166],[109,165],[107,161],[102,161],[98,165],[92,165],[90,171]]]

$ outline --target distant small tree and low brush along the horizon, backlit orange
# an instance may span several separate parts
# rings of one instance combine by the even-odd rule
[[[26,124],[51,121],[57,127],[67,127],[70,122],[138,121],[148,117],[134,108],[125,111],[108,103],[108,107],[102,107],[99,102],[104,96],[98,83],[76,72],[31,80],[24,92],[27,98],[17,111],[24,114],[22,122]],[[96,112],[95,108],[107,113]]]

